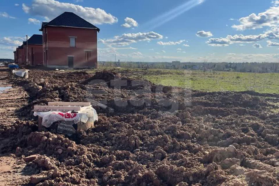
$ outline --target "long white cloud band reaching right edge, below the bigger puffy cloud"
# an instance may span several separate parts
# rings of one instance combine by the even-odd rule
[[[273,27],[259,35],[227,35],[226,37],[210,38],[206,43],[210,46],[228,46],[233,43],[250,43],[257,42],[264,39],[279,39],[279,28]]]

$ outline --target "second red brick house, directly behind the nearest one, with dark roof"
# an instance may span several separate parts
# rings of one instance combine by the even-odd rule
[[[28,61],[31,65],[43,64],[42,35],[34,34],[28,39]],[[23,42],[24,62],[26,64],[26,41]]]

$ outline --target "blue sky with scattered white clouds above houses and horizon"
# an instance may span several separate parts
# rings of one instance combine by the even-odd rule
[[[0,0],[0,58],[65,11],[100,28],[101,61],[279,61],[279,0]]]

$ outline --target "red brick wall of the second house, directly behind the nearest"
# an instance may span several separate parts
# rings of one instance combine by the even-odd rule
[[[33,61],[32,48],[34,56]],[[26,53],[26,45],[24,45],[24,53]],[[26,61],[25,58],[24,61]],[[43,64],[43,46],[41,44],[28,44],[28,61],[30,61],[31,65]]]

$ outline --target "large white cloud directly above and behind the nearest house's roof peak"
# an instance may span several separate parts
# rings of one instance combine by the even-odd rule
[[[31,6],[22,4],[25,13],[53,19],[63,12],[74,12],[92,24],[113,24],[118,20],[100,8],[83,7],[72,3],[61,3],[55,0],[33,0]]]

